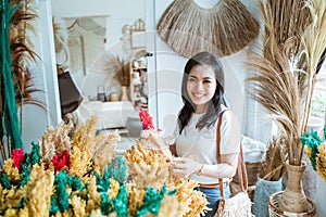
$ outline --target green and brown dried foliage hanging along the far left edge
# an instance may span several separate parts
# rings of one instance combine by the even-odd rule
[[[28,60],[35,59],[30,50],[30,41],[26,29],[30,28],[28,21],[35,17],[28,8],[29,1],[1,0],[0,28],[0,149],[2,159],[5,152],[23,146],[21,127],[17,117],[17,105],[32,101],[30,93],[35,91],[30,74],[26,67]]]

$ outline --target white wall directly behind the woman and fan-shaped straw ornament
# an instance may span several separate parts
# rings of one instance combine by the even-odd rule
[[[155,25],[173,0],[155,1]],[[212,8],[218,0],[196,0],[204,8]],[[259,20],[256,1],[242,0],[247,9]],[[154,31],[155,25],[152,25]],[[159,128],[170,133],[176,123],[177,114],[183,102],[180,99],[180,85],[183,69],[187,59],[176,54],[156,34],[156,76],[158,76],[158,123]],[[253,48],[260,40],[255,40]],[[247,49],[247,48],[246,48]],[[250,72],[244,65],[247,61],[246,51],[240,51],[229,56],[222,58],[226,79],[226,95],[230,101],[233,111],[242,123],[243,135],[268,141],[271,139],[271,122],[262,117],[262,107],[252,101],[246,93],[244,79]]]

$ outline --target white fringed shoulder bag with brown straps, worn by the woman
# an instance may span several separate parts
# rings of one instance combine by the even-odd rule
[[[222,117],[223,113],[221,113],[217,129],[216,129],[216,155],[217,155],[217,163],[221,163],[221,125],[222,125]],[[239,184],[241,191],[236,195],[231,196],[230,199],[224,199],[224,189],[223,189],[223,180],[218,179],[220,184],[220,204],[217,213],[215,217],[251,217],[251,201],[247,193],[248,189],[248,178],[247,178],[247,170],[243,161],[243,152],[242,145],[240,144],[240,153],[238,158],[238,176],[239,176]]]

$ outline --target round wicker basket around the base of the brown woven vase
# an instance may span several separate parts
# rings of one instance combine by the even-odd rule
[[[278,206],[281,194],[283,194],[283,191],[279,191],[269,196],[269,201],[268,201],[269,217],[280,217],[280,216],[314,217],[314,216],[316,216],[316,206],[312,202],[312,200],[310,200],[309,197],[306,197],[308,203],[309,203],[308,213],[294,214],[294,213],[283,212]]]

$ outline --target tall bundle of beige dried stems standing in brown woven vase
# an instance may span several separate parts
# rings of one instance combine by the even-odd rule
[[[325,0],[260,1],[265,25],[263,55],[254,53],[250,94],[272,114],[290,165],[301,165],[316,69],[326,48]]]

